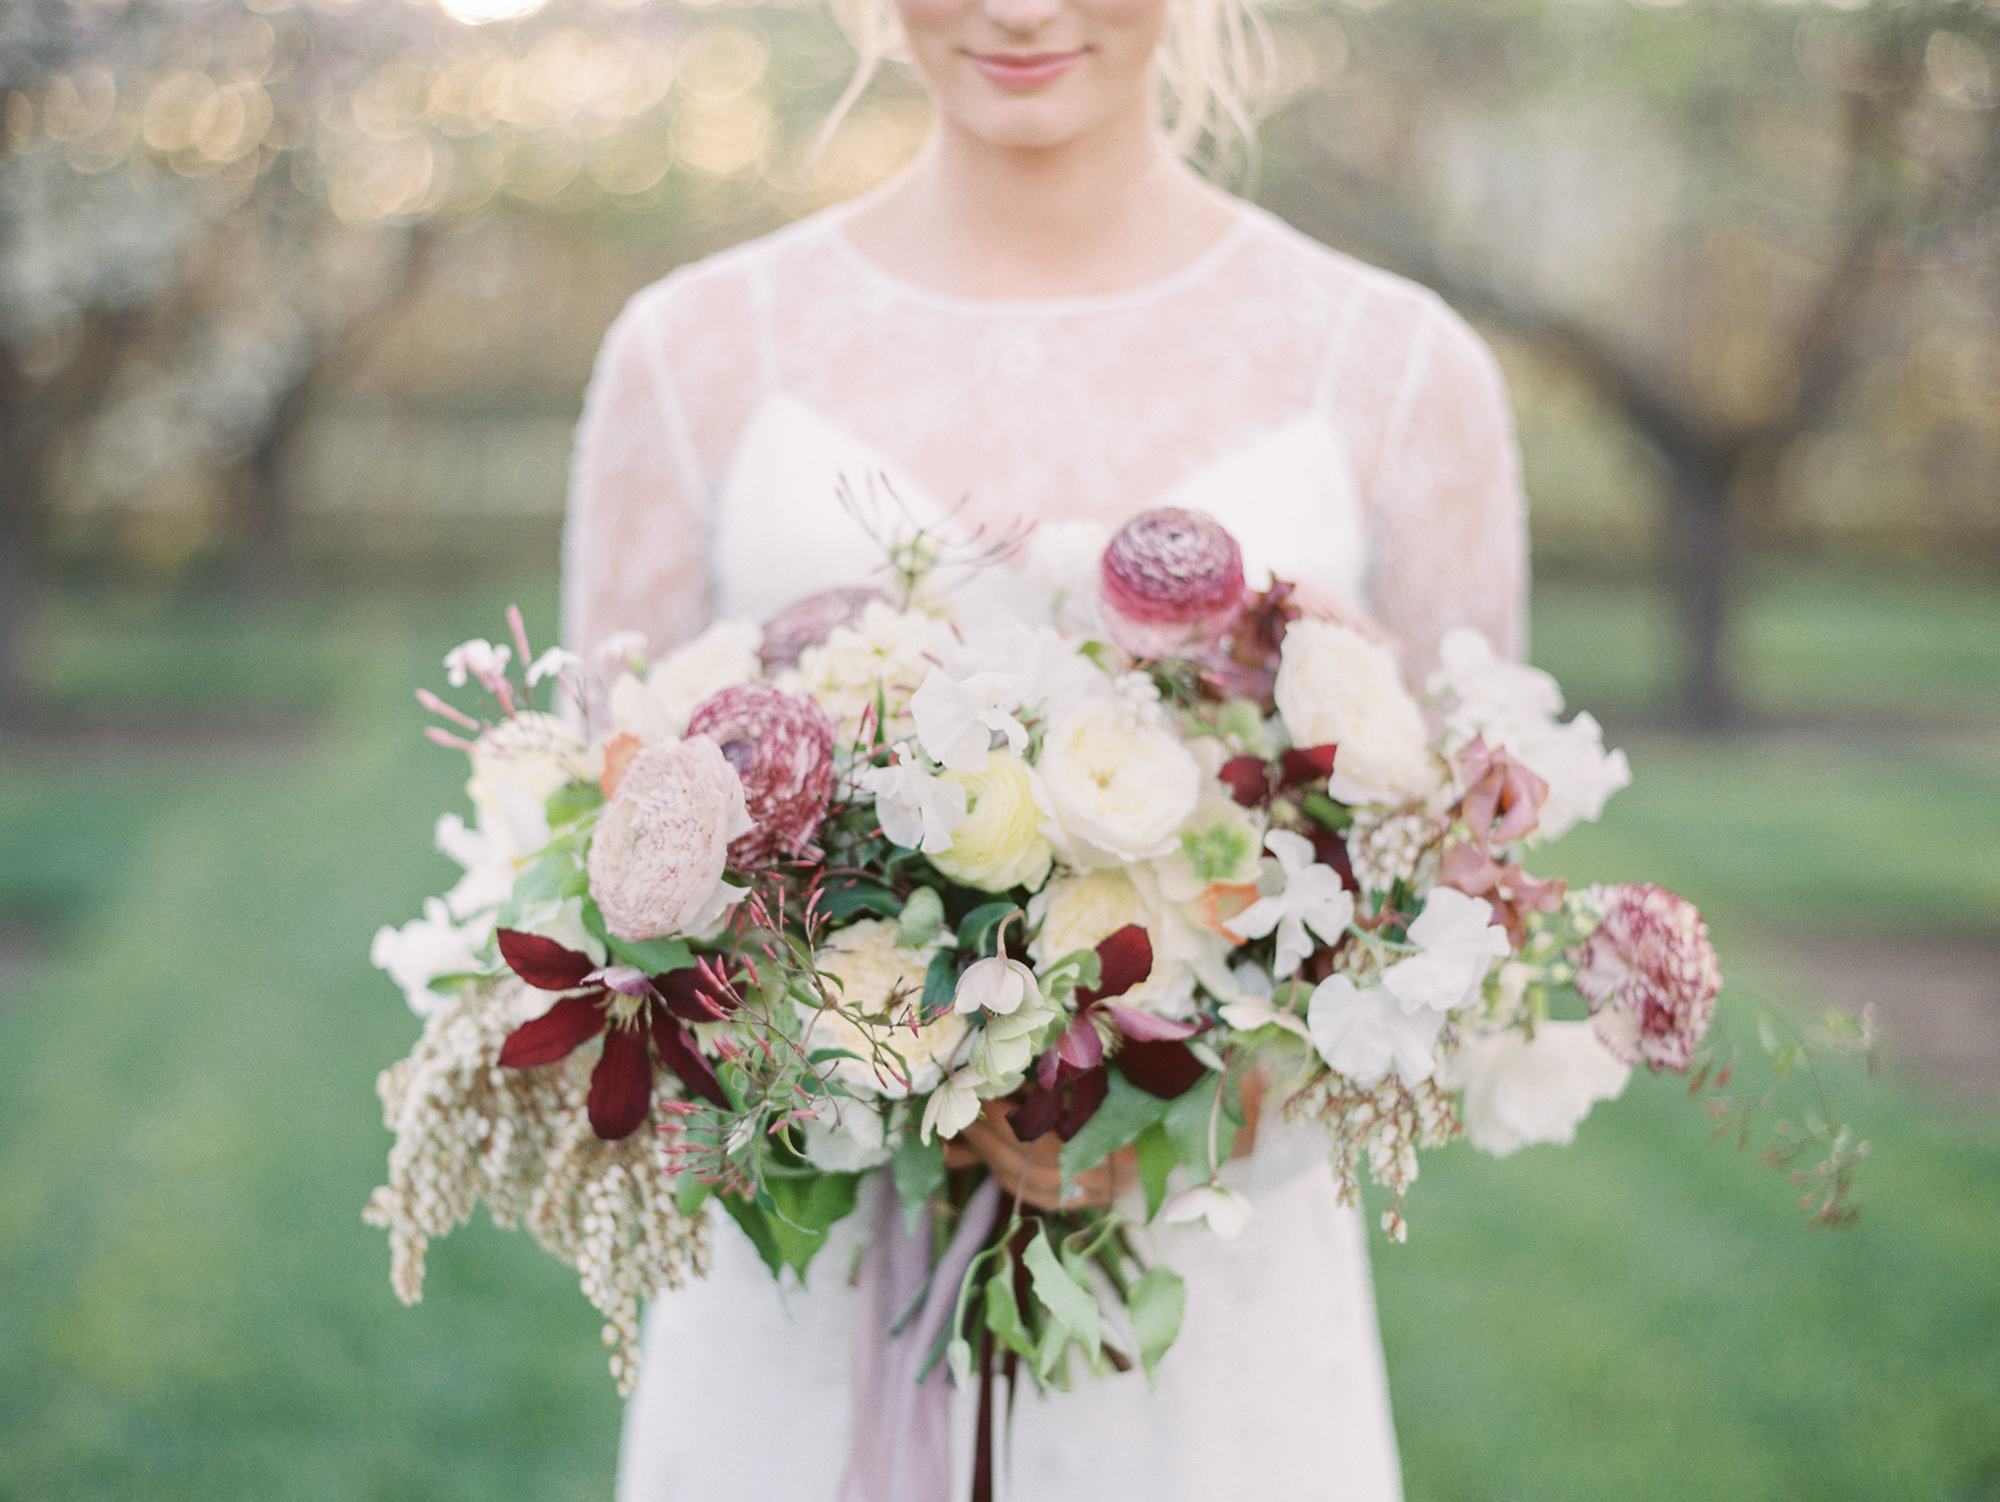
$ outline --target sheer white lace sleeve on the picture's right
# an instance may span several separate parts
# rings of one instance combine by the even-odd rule
[[[1368,602],[1422,684],[1438,638],[1476,626],[1504,656],[1528,636],[1520,454],[1484,340],[1426,300],[1366,488]]]

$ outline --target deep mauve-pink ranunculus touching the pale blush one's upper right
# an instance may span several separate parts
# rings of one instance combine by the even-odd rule
[[[702,700],[688,734],[712,738],[742,778],[754,828],[730,846],[734,864],[812,848],[834,792],[834,722],[818,704],[770,684],[738,684]]]

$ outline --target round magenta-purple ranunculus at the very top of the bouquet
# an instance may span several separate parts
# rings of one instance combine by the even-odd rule
[[[1214,516],[1156,506],[1110,540],[1098,590],[1112,640],[1160,658],[1228,628],[1244,602],[1244,558]]]

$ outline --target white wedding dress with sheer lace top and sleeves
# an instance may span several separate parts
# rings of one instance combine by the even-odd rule
[[[662,652],[880,562],[834,482],[916,516],[1218,516],[1276,568],[1370,612],[1414,680],[1456,624],[1518,652],[1526,582],[1492,356],[1434,296],[1268,214],[1132,292],[976,302],[876,268],[834,210],[640,292],[578,434],[566,634]],[[1174,1232],[1188,1316],[1158,1392],[1084,1382],[1014,1410],[1016,1502],[1400,1496],[1366,1236],[1310,1130],[1230,1166],[1256,1222]],[[648,1314],[624,1502],[832,1502],[848,1440],[858,1226],[778,1290],[718,1218],[714,1272]],[[960,1394],[964,1472],[968,1394]],[[964,1496],[960,1486],[954,1496]]]

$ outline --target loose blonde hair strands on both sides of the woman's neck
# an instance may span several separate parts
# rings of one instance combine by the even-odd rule
[[[908,62],[896,0],[828,0],[856,66],[820,144],[834,134],[882,62]],[[1256,0],[1168,0],[1158,52],[1162,120],[1182,156],[1214,176],[1256,160],[1256,100],[1272,72],[1270,30]]]

